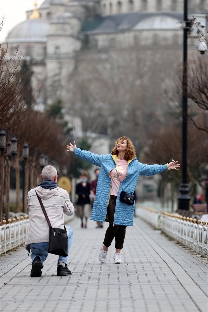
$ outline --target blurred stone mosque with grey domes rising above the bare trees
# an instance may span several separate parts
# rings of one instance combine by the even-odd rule
[[[190,14],[203,13],[208,1],[188,3]],[[7,43],[10,56],[19,47],[32,60],[33,88],[41,105],[51,104],[55,96],[67,105],[67,81],[84,47],[97,54],[163,45],[181,49],[182,19],[183,0],[45,0],[27,11]]]

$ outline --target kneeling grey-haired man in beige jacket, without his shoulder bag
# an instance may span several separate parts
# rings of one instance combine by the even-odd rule
[[[72,216],[74,206],[69,199],[69,194],[57,184],[57,170],[53,166],[46,166],[41,173],[42,183],[32,188],[27,195],[27,209],[29,225],[25,248],[30,252],[32,259],[31,277],[42,275],[43,262],[48,256],[49,226],[43,214],[37,194],[42,199],[43,206],[52,227],[64,229],[64,214]],[[73,232],[71,227],[65,226],[68,235],[68,254],[72,245]],[[57,276],[72,275],[67,267],[67,257],[59,256],[57,262]]]

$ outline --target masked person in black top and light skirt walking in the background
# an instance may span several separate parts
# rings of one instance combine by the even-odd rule
[[[87,181],[87,171],[81,174],[81,182],[76,185],[76,215],[81,219],[81,227],[87,228],[87,219],[91,217],[90,183]]]

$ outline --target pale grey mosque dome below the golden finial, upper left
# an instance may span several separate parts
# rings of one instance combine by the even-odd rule
[[[41,18],[27,19],[17,24],[8,34],[8,43],[46,42],[49,24]]]

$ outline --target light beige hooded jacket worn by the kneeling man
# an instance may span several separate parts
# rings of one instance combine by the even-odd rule
[[[74,213],[74,206],[69,199],[69,194],[63,188],[58,187],[52,190],[44,189],[41,186],[32,188],[27,194],[29,225],[25,248],[32,243],[49,241],[49,227],[35,191],[42,199],[52,227],[64,228],[64,213],[67,216],[72,216]]]

